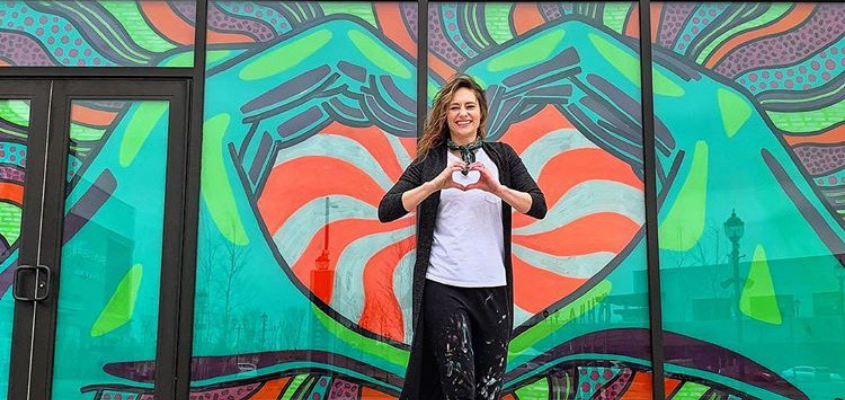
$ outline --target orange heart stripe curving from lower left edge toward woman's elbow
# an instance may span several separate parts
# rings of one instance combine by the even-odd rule
[[[331,239],[329,240],[329,269],[335,270],[337,267],[338,258],[343,250],[349,246],[353,241],[358,240],[364,236],[390,232],[397,229],[408,228],[414,225],[413,218],[402,218],[390,223],[383,224],[375,219],[343,219],[329,224],[329,232]],[[305,248],[305,251],[298,260],[291,266],[293,273],[299,278],[309,289],[313,288],[311,282],[311,271],[314,270],[314,260],[319,257],[323,248],[325,247],[324,235],[325,227],[320,228],[311,238],[311,242]],[[391,278],[392,279],[392,278]],[[332,301],[332,289],[325,293],[315,293],[320,300],[326,304]]]

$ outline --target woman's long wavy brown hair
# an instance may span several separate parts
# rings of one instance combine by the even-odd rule
[[[440,146],[449,138],[449,124],[446,121],[446,115],[449,110],[449,103],[458,89],[467,88],[475,93],[475,98],[478,101],[478,107],[481,110],[481,121],[478,123],[478,138],[484,140],[486,131],[484,125],[487,122],[487,96],[484,94],[484,89],[471,76],[458,74],[449,79],[443,87],[434,96],[434,106],[428,118],[425,120],[425,129],[423,130],[422,138],[417,146],[416,161],[423,160],[429,150]]]

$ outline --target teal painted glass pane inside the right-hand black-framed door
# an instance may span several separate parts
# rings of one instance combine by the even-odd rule
[[[122,365],[155,360],[168,118],[166,101],[71,102],[54,398],[152,383],[154,365]]]

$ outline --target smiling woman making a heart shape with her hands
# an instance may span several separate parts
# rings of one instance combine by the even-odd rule
[[[379,204],[419,207],[411,359],[400,399],[498,399],[513,321],[511,208],[546,214],[509,145],[484,142],[487,99],[470,77],[438,92],[417,158]]]

